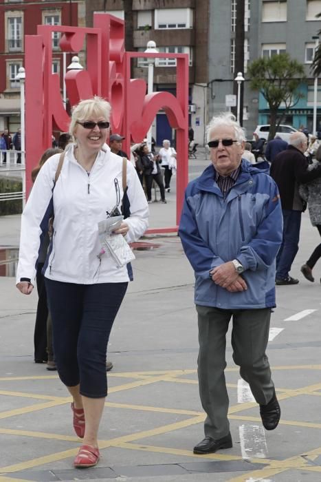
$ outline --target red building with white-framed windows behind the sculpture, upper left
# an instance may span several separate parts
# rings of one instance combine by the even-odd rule
[[[16,132],[20,125],[20,85],[16,81],[24,65],[24,36],[36,34],[37,25],[85,25],[84,1],[0,1],[0,131]],[[52,37],[52,72],[63,79],[63,54],[59,34]],[[67,65],[71,55],[67,54]],[[32,75],[26,72],[26,75]]]

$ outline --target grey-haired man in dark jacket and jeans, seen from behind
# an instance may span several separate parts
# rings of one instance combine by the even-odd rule
[[[311,171],[303,154],[307,150],[307,136],[294,132],[285,151],[274,158],[270,174],[280,191],[283,213],[283,242],[276,257],[276,284],[298,284],[299,280],[289,275],[299,249],[300,225],[305,202],[300,198],[299,185],[321,176],[321,166]]]

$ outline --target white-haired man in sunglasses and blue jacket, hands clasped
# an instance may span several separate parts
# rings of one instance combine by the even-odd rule
[[[245,135],[232,114],[212,119],[208,141],[212,165],[189,183],[179,225],[196,277],[199,393],[207,414],[196,454],[232,447],[224,376],[231,318],[233,359],[260,405],[263,426],[274,430],[280,419],[265,355],[282,241],[278,188],[242,159]]]

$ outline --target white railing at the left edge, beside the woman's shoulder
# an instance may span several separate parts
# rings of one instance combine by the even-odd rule
[[[8,176],[7,173],[21,173],[22,191],[13,191],[0,193],[1,201],[10,201],[16,199],[23,200],[25,205],[25,153],[23,151],[0,150],[0,177]],[[4,176],[3,176],[4,174]]]

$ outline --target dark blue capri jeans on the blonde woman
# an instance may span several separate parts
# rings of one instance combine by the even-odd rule
[[[127,282],[74,284],[45,278],[60,380],[89,398],[107,396],[106,357]]]

